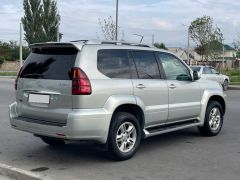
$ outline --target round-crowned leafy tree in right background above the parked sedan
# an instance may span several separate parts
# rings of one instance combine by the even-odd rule
[[[208,61],[218,54],[223,34],[218,27],[213,26],[213,19],[210,16],[203,16],[191,22],[189,26],[191,39],[196,43],[199,54]]]

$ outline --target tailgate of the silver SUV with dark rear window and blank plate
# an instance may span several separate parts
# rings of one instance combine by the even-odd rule
[[[64,125],[72,110],[71,70],[78,50],[74,47],[36,48],[27,58],[18,80],[19,116]]]

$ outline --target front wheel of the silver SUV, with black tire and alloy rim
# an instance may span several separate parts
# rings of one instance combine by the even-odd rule
[[[210,101],[206,110],[204,125],[199,127],[199,131],[205,136],[216,136],[220,133],[222,125],[222,106],[217,101]]]

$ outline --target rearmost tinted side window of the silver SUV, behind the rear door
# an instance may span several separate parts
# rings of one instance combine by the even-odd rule
[[[129,59],[126,50],[99,50],[97,68],[101,73],[109,78],[131,78]]]

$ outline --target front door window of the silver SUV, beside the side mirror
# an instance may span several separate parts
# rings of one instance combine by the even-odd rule
[[[188,81],[192,79],[189,70],[178,58],[167,53],[158,53],[158,56],[168,80]]]

